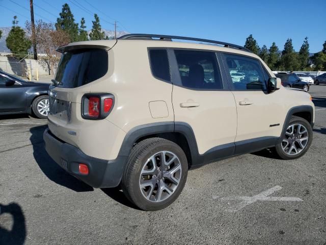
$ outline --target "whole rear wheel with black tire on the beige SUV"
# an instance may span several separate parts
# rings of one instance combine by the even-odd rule
[[[131,150],[122,190],[140,209],[163,209],[178,198],[187,171],[187,158],[179,145],[162,138],[145,139]]]

